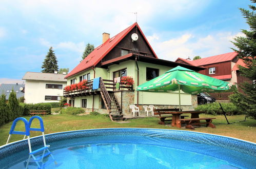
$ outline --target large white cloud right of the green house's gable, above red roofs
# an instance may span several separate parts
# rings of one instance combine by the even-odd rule
[[[149,43],[159,58],[175,61],[178,57],[191,59],[194,56],[209,57],[227,52],[234,48],[230,40],[242,33],[219,32],[206,36],[183,34],[177,38],[161,41],[156,34],[147,37]]]

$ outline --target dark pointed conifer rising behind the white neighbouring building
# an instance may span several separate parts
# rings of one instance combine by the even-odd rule
[[[45,60],[42,65],[43,73],[54,73],[54,71],[58,71],[58,60],[55,56],[52,47],[50,47],[49,52],[45,56]]]

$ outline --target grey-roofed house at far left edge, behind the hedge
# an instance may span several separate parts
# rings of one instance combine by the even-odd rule
[[[1,84],[0,85],[0,95],[5,94],[6,100],[8,100],[9,95],[13,89],[14,92],[16,93],[16,97],[18,99],[18,98],[24,96],[24,88],[25,88],[25,85],[18,85],[18,83],[16,83],[16,84]]]

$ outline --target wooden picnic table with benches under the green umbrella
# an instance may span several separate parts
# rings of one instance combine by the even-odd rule
[[[187,129],[194,129],[193,125],[201,125],[206,124],[206,126],[210,126],[211,128],[215,128],[215,125],[212,124],[212,119],[215,118],[199,118],[199,114],[205,113],[203,111],[173,111],[173,109],[154,109],[154,113],[157,114],[172,114],[172,126],[176,126],[177,128],[181,128],[181,122],[186,122]],[[182,114],[191,114],[190,119],[182,119]],[[205,120],[206,122],[200,122],[200,120]]]

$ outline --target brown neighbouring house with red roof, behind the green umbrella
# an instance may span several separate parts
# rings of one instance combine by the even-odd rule
[[[205,68],[205,70],[201,70],[199,73],[216,79],[225,80],[231,83],[231,85],[237,85],[237,74],[235,71],[232,71],[232,68],[238,61],[237,55],[238,53],[236,52],[230,52],[197,60],[189,60],[179,57],[175,62]]]

